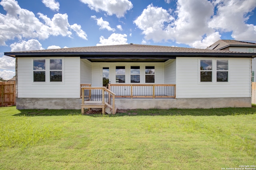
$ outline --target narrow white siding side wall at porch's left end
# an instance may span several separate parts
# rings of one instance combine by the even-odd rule
[[[92,83],[92,63],[87,59],[80,59],[80,83]]]

